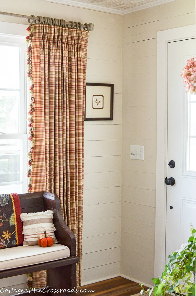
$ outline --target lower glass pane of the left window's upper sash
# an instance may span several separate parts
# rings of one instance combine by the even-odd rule
[[[19,132],[19,91],[0,90],[0,132]]]

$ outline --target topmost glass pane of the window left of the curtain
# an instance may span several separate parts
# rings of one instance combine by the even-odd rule
[[[20,47],[0,45],[0,88],[19,89]]]

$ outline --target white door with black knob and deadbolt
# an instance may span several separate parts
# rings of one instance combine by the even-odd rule
[[[196,228],[196,95],[185,92],[182,69],[196,56],[195,38],[168,43],[166,263]],[[173,168],[172,168],[173,167]],[[168,184],[172,179],[167,180]],[[172,183],[171,183],[172,184]]]

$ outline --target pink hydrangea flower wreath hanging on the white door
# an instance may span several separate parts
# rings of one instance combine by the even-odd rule
[[[182,70],[181,76],[187,88],[186,92],[196,94],[196,57],[187,61],[187,65]]]

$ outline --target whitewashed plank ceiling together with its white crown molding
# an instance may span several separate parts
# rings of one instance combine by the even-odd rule
[[[174,0],[44,0],[124,15],[129,12],[164,4]]]

